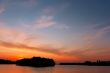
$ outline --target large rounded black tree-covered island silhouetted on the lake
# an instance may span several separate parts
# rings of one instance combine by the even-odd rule
[[[25,58],[21,60],[17,60],[16,65],[19,66],[32,66],[32,67],[49,67],[54,66],[55,62],[53,59],[49,58],[41,58],[41,57],[32,57],[32,58]]]

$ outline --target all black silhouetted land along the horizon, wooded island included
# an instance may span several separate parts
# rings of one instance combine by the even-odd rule
[[[15,64],[17,66],[30,66],[30,67],[54,67],[56,65],[53,59],[41,58],[41,57],[32,57],[32,58],[24,58],[17,61],[3,60],[0,59],[0,64]],[[80,66],[110,66],[110,61],[85,61],[85,62],[77,62],[77,63],[66,63],[62,62],[58,65],[80,65]]]

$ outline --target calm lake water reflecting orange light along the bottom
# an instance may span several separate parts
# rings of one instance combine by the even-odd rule
[[[110,66],[56,65],[34,68],[16,65],[0,65],[0,73],[110,73]]]

